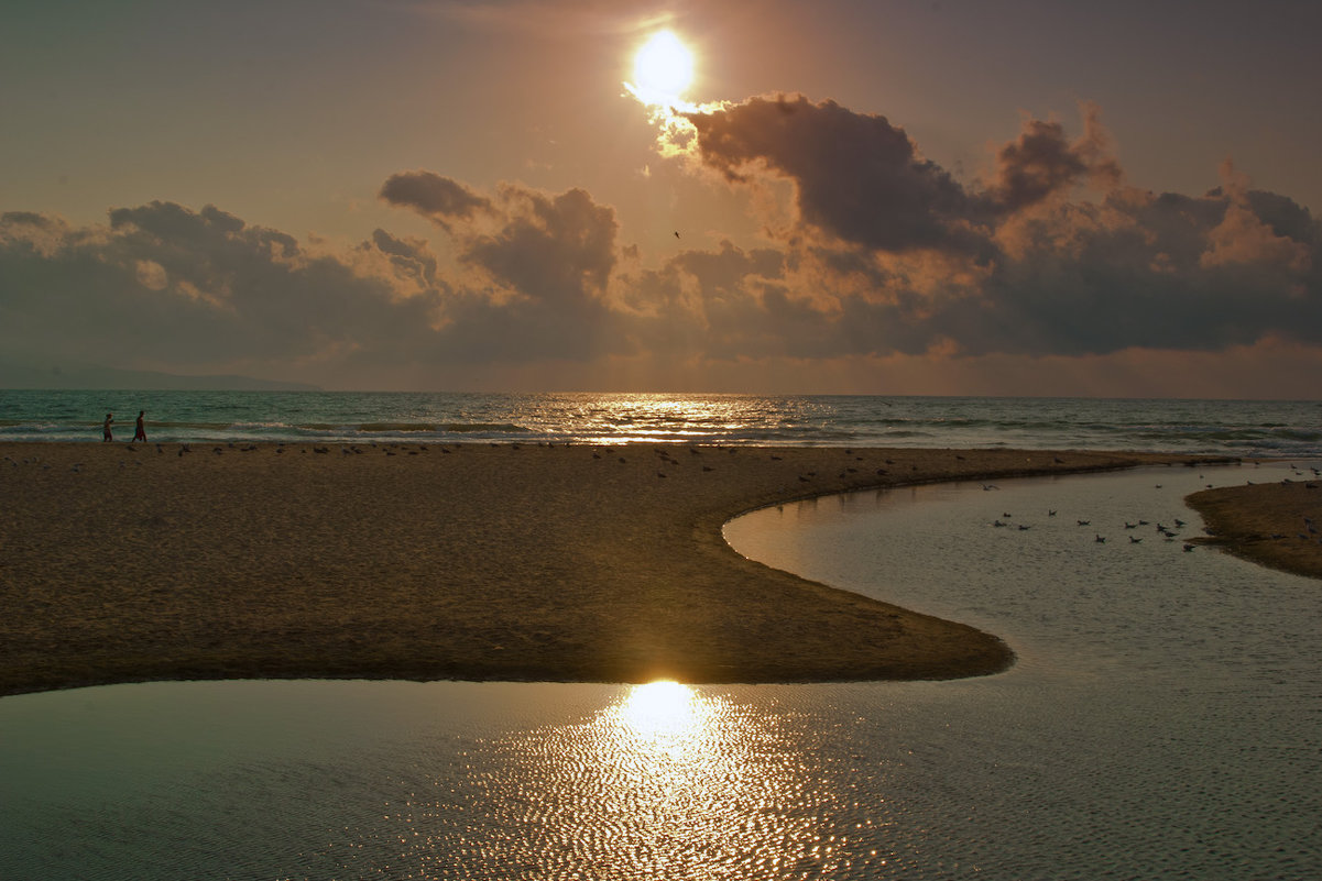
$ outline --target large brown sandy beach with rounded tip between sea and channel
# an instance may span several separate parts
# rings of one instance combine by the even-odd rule
[[[748,561],[722,524],[854,489],[1187,460],[120,442],[7,444],[0,456],[0,693],[169,679],[990,674],[1013,663],[994,634]]]

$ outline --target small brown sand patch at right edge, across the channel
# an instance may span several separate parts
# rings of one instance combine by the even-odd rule
[[[1311,469],[1270,483],[1194,493],[1210,536],[1199,539],[1261,565],[1322,579],[1322,479]]]

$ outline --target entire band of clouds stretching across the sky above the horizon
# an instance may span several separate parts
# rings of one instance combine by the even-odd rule
[[[1311,363],[1322,227],[1310,211],[1231,165],[1202,195],[1129,186],[1097,110],[1083,115],[1080,136],[1025,120],[982,178],[961,182],[902,128],[833,102],[690,114],[687,161],[731,190],[779,188],[791,214],[756,247],[676,243],[650,262],[584,189],[484,192],[418,169],[379,195],[426,218],[426,238],[300,240],[175,202],[85,227],[12,211],[0,346],[360,388],[598,375],[611,387],[607,369],[702,387],[869,365],[952,382],[980,365],[1027,383],[1034,365],[1068,376],[1062,365],[1108,363],[1142,388],[1138,366],[1178,353]]]

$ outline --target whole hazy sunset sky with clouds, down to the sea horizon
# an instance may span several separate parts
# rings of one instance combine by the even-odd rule
[[[693,79],[657,98],[662,30]],[[1285,0],[7,0],[0,362],[1317,399],[1318,33]]]

